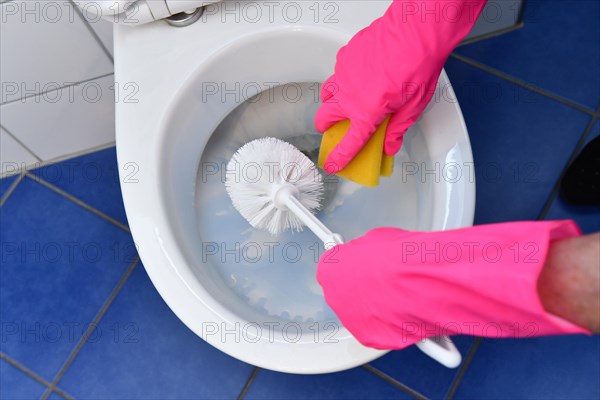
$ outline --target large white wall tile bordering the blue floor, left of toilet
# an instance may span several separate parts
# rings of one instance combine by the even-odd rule
[[[1,123],[44,161],[111,143],[113,85],[111,75],[2,105]]]

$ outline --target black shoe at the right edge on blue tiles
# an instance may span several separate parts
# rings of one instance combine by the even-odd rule
[[[560,183],[563,199],[574,205],[600,205],[600,136],[588,143]]]

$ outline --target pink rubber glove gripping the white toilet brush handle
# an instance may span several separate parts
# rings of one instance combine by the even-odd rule
[[[573,221],[374,229],[325,252],[317,280],[342,324],[377,349],[440,335],[590,333],[546,312],[537,292],[550,241],[579,235]]]

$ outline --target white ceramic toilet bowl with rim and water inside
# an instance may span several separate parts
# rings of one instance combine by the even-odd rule
[[[324,303],[314,278],[318,240],[310,232],[272,238],[250,229],[225,194],[223,165],[257,137],[315,150],[318,83],[332,73],[337,50],[389,1],[335,3],[331,23],[323,15],[315,22],[311,2],[294,3],[302,10],[293,23],[278,12],[227,23],[226,3],[233,2],[183,29],[162,22],[115,28],[116,85],[130,88],[117,97],[117,153],[139,254],[175,314],[231,356],[294,373],[363,364],[385,352],[360,345]],[[392,178],[376,189],[330,182],[319,217],[332,230],[349,240],[382,225],[472,223],[474,181],[464,174],[470,144],[445,73],[440,83]],[[447,365],[460,362],[449,354]]]

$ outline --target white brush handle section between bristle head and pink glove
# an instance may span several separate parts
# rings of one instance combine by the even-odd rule
[[[300,200],[296,196],[297,189],[293,185],[285,185],[277,190],[274,200],[278,207],[283,205],[296,217],[300,218],[304,222],[304,225],[323,241],[325,250],[329,250],[335,245],[343,244],[344,239],[342,236],[331,232],[313,213],[300,203]]]

